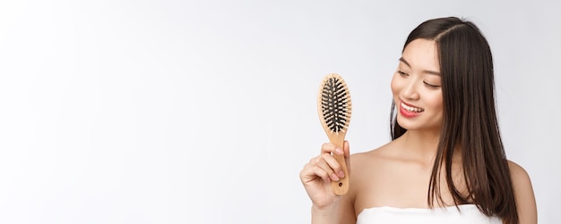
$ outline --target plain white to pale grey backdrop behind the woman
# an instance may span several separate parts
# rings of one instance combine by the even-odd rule
[[[351,152],[389,141],[410,30],[488,37],[507,157],[560,223],[558,1],[2,1],[0,223],[308,223],[327,141],[316,91],[350,87]]]

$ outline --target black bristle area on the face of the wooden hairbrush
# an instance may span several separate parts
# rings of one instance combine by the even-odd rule
[[[339,133],[347,128],[349,103],[343,83],[336,78],[327,79],[322,90],[321,104],[325,124],[332,132]]]

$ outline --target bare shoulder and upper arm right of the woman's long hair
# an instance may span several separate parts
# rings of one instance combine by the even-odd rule
[[[520,223],[537,223],[538,212],[530,175],[519,164],[508,161]]]

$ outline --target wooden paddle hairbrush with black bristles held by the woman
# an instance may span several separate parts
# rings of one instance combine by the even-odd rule
[[[329,142],[341,149],[349,129],[350,111],[350,92],[347,83],[336,73],[326,75],[317,94],[317,112]],[[335,195],[345,195],[349,191],[347,162],[342,154],[332,153],[332,156],[341,164],[345,173],[344,178],[332,181],[332,191]]]

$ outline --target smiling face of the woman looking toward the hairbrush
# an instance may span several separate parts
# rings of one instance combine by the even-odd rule
[[[401,127],[439,132],[444,109],[435,41],[419,38],[405,47],[392,92]]]

